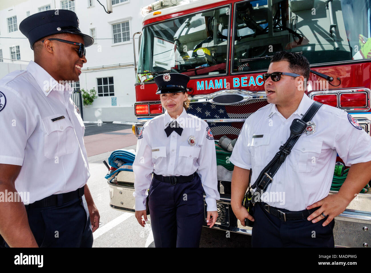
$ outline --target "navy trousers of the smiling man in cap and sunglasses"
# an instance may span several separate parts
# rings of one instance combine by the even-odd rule
[[[84,195],[60,207],[26,206],[26,211],[39,247],[92,247],[93,233]]]

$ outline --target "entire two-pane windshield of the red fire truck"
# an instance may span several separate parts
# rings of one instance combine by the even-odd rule
[[[188,15],[185,10],[144,27],[137,82],[164,71],[225,75],[229,48],[232,73],[266,71],[269,57],[280,50],[302,52],[312,65],[371,58],[370,1],[241,1],[232,20],[229,6]]]

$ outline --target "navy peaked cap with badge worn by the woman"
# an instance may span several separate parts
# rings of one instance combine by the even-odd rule
[[[178,93],[187,91],[189,77],[180,73],[165,73],[155,77],[156,94]]]

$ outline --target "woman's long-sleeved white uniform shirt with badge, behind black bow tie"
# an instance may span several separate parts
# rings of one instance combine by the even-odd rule
[[[208,124],[200,118],[183,112],[176,119],[183,128],[181,136],[173,131],[166,136],[165,128],[173,119],[165,114],[144,124],[138,137],[137,155],[133,163],[135,174],[135,210],[145,210],[147,189],[151,184],[151,173],[163,176],[191,175],[197,171],[206,193],[207,211],[216,211],[217,189],[216,152]],[[188,138],[194,136],[196,143],[191,146]]]

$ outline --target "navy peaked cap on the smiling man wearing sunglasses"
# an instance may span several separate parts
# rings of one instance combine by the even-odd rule
[[[79,19],[71,10],[46,10],[32,14],[19,24],[19,30],[29,40],[31,49],[33,49],[33,44],[41,38],[58,33],[81,35],[85,47],[94,43],[91,36],[81,32]]]

